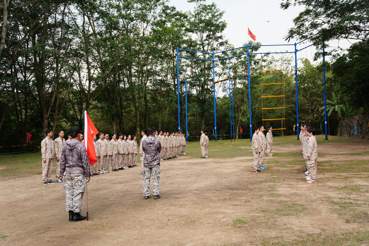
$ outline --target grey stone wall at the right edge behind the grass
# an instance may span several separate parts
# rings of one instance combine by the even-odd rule
[[[355,127],[357,126],[357,136],[355,136]],[[338,124],[338,136],[350,138],[369,139],[369,113],[351,115],[342,118]]]

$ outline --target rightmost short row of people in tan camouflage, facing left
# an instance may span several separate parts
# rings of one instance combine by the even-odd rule
[[[299,138],[301,141],[301,153],[303,154],[306,169],[304,173],[306,175],[307,183],[317,183],[317,141],[315,139],[315,128],[310,123],[301,125],[301,131]]]

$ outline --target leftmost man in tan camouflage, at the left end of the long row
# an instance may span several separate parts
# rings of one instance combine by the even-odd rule
[[[42,153],[42,180],[44,184],[55,184],[51,181],[52,162],[54,161],[54,141],[52,141],[51,129],[45,130],[46,138],[41,141]]]

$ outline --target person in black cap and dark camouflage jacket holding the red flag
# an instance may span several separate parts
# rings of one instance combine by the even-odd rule
[[[79,128],[69,129],[72,137],[62,148],[60,172],[63,173],[63,187],[66,193],[65,210],[69,212],[69,221],[81,221],[86,216],[81,215],[82,197],[86,182],[90,181],[90,160],[85,145],[79,141]]]

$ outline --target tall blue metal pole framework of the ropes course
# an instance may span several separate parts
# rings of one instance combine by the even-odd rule
[[[309,37],[312,38],[317,34],[314,34],[313,36]],[[225,51],[219,51],[219,52],[212,52],[212,53],[208,53],[208,52],[201,52],[201,51],[192,51],[192,50],[186,50],[186,49],[179,49],[177,47],[177,93],[178,93],[178,131],[180,131],[180,105],[179,105],[179,58],[185,58],[185,59],[196,59],[196,60],[207,60],[213,63],[213,82],[215,82],[215,69],[214,69],[214,62],[218,61],[218,60],[224,60],[224,59],[228,59],[228,75],[229,77],[231,77],[230,75],[230,58],[234,58],[234,57],[238,57],[238,56],[243,56],[243,55],[247,55],[247,70],[248,70],[248,76],[247,76],[247,80],[248,80],[248,87],[249,87],[249,121],[250,121],[250,141],[252,141],[252,119],[251,119],[251,89],[250,89],[250,55],[256,55],[256,54],[281,54],[281,53],[294,53],[295,55],[295,83],[296,83],[296,121],[297,121],[297,129],[299,129],[299,94],[298,94],[298,79],[297,79],[297,52],[302,51],[303,49],[306,49],[310,46],[312,46],[313,44],[310,44],[302,49],[297,49],[297,45],[306,41],[307,39],[304,39],[303,41],[300,41],[298,43],[294,43],[294,44],[280,44],[280,45],[249,45],[247,44],[247,46],[242,46],[239,48],[234,48],[234,49],[228,49]],[[295,50],[293,52],[262,52],[262,53],[250,53],[249,52],[249,47],[259,47],[259,46],[286,46],[286,45],[294,45]],[[218,53],[223,53],[223,52],[227,52],[227,51],[232,51],[235,49],[242,49],[242,48],[246,48],[247,47],[247,53],[245,54],[241,54],[241,55],[236,55],[236,56],[230,56],[230,57],[226,57],[226,58],[220,58],[220,59],[214,59],[214,54],[218,54]],[[203,53],[203,54],[209,54],[212,55],[212,60],[209,59],[201,59],[201,58],[193,58],[193,57],[187,57],[187,56],[179,56],[179,51],[188,51],[188,52],[197,52],[197,53]],[[244,78],[246,79],[246,78]],[[234,130],[234,114],[233,114],[233,80],[229,79],[228,82],[228,96],[230,98],[230,117],[231,117],[231,136],[232,136],[232,132],[233,132],[233,136],[235,135],[235,130]],[[186,136],[187,136],[187,80],[185,80],[185,87],[186,87]],[[325,92],[325,55],[324,55],[324,43],[323,43],[323,83],[324,83],[324,119],[325,119],[325,140],[328,140],[327,138],[327,101],[326,101],[326,92]],[[231,88],[232,87],[232,88]],[[216,112],[216,96],[215,96],[215,83],[213,83],[213,92],[214,92],[214,125],[215,125],[215,141],[217,141],[217,112]],[[232,103],[232,105],[231,105]],[[233,126],[232,126],[233,125]],[[297,133],[299,131],[297,130]],[[187,137],[186,137],[187,138]],[[299,140],[299,134],[297,134],[297,140]],[[187,139],[188,141],[188,139]]]

